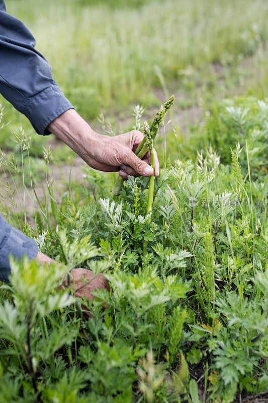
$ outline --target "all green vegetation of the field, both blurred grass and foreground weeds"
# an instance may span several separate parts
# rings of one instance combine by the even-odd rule
[[[107,273],[113,289],[96,292],[86,321],[81,301],[56,291],[66,269],[13,262],[11,286],[0,295],[0,401],[231,403],[267,390],[268,108],[255,98],[268,87],[267,3],[9,0],[7,7],[30,27],[85,119],[103,109],[128,125],[131,103],[159,106],[155,86],[179,88],[182,109],[180,127],[165,133],[148,223],[149,179],[129,177],[115,201],[114,175],[85,168],[82,184],[59,190],[49,160],[69,164],[74,154],[62,145],[43,154],[49,138],[14,108],[5,109],[6,126],[0,108],[2,214],[68,269]],[[236,87],[254,97],[217,102]],[[132,128],[140,129],[142,109]],[[195,110],[201,124],[192,122]],[[163,137],[155,147],[163,149]],[[44,197],[27,212],[23,193],[35,199],[41,179]]]

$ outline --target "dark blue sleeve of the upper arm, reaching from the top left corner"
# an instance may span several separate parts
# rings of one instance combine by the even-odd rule
[[[6,12],[0,0],[0,93],[28,117],[40,135],[61,113],[73,108],[52,77],[45,57],[35,49],[29,29]]]

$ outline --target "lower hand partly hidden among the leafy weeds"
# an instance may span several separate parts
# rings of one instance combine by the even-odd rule
[[[42,264],[56,263],[55,260],[41,252],[37,253],[36,260],[40,261]],[[62,284],[63,286],[67,286],[67,283],[68,277],[65,276]],[[95,296],[92,294],[92,292],[98,288],[110,291],[109,283],[102,274],[98,274],[96,277],[94,277],[93,271],[87,270],[86,268],[72,269],[70,273],[70,287],[72,290],[76,290],[76,297],[82,298],[85,296],[87,302],[89,302],[91,299],[95,299]],[[62,288],[62,286],[59,286],[59,288]],[[92,316],[84,305],[82,305],[82,308],[86,315]]]

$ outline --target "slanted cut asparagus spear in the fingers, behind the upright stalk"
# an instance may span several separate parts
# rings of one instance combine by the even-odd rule
[[[168,111],[168,109],[171,108],[171,106],[173,105],[173,103],[174,103],[174,95],[171,95],[171,97],[169,97],[168,100],[164,103],[163,109],[160,109],[160,110],[156,113],[156,115],[155,115],[155,117],[154,117],[154,119],[153,119],[153,122],[152,122],[152,124],[151,124],[151,126],[150,126],[150,128],[149,128],[149,129],[150,129],[150,133],[151,133],[151,137],[152,137],[153,140],[155,139],[155,137],[156,137],[156,135],[157,135],[157,133],[158,133],[159,125],[160,125],[161,121],[163,120],[163,118],[164,118],[166,112]],[[148,125],[148,124],[147,124],[147,125]],[[140,159],[142,159],[142,158],[145,156],[145,154],[147,153],[148,150],[149,150],[149,149],[148,149],[148,145],[147,145],[146,140],[145,140],[145,138],[144,138],[144,139],[140,142],[138,148],[136,149],[135,154],[136,154]],[[122,189],[123,183],[124,183],[124,179],[121,178],[120,175],[118,175],[118,178],[117,178],[117,180],[116,180],[116,182],[115,182],[115,185],[114,185],[114,187],[113,187],[112,193],[115,194],[116,196],[118,196],[120,190]]]

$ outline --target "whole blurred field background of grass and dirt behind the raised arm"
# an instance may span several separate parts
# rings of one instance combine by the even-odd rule
[[[30,28],[55,80],[96,131],[104,132],[97,120],[101,112],[113,132],[124,132],[131,129],[136,104],[143,105],[145,117],[152,116],[174,93],[175,137],[169,125],[165,143],[171,160],[177,145],[194,147],[218,102],[267,94],[265,0],[8,0],[7,11]],[[1,132],[6,155],[18,155],[11,132],[20,125],[33,136],[33,181],[39,185],[45,178],[42,147],[51,142],[61,173],[65,165],[80,167],[74,153],[52,136],[38,136],[2,97],[0,103],[5,121],[11,121]],[[26,169],[26,182],[28,174]]]

